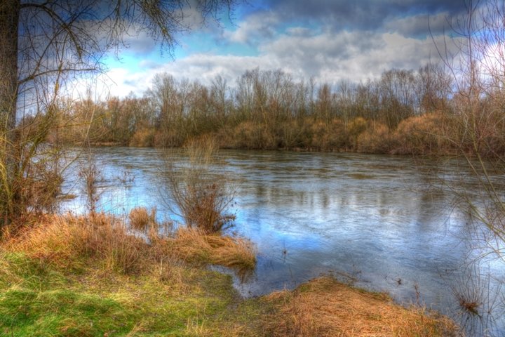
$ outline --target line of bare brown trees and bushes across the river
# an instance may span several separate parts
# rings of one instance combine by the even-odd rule
[[[181,147],[213,138],[222,148],[237,149],[503,154],[501,89],[478,95],[471,124],[462,113],[465,97],[454,90],[445,67],[434,64],[336,84],[259,68],[244,72],[234,85],[219,76],[204,86],[163,73],[140,97],[59,100],[47,140]],[[29,116],[22,124],[30,130],[41,120],[43,114]]]

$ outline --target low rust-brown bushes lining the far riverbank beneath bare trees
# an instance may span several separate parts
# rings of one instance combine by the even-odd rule
[[[297,152],[349,152],[367,154],[398,154],[414,156],[450,156],[467,154],[473,156],[470,140],[455,146],[458,136],[450,133],[447,125],[457,124],[454,118],[442,114],[424,114],[405,119],[395,128],[357,117],[344,123],[342,119],[306,118],[285,121],[279,125],[244,121],[238,125],[227,125],[213,132],[192,136],[168,136],[166,130],[142,128],[139,134],[125,142],[102,139],[60,140],[72,145],[95,147],[186,147],[194,143],[214,143],[224,150],[288,150]],[[444,127],[443,127],[444,126]],[[456,126],[451,126],[456,128]],[[168,139],[169,138],[169,139]],[[496,152],[483,152],[483,157],[496,157]]]

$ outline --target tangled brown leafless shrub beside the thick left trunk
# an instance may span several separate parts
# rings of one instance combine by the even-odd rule
[[[41,103],[42,105],[42,103]],[[15,143],[0,133],[0,230],[15,231],[27,218],[54,211],[62,184],[62,149],[47,143],[58,128],[58,107],[23,119]],[[9,148],[10,150],[7,150]],[[10,227],[10,228],[8,228]]]

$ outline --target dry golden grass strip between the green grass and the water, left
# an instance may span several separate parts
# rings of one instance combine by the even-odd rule
[[[147,210],[137,214],[145,216]],[[88,217],[48,216],[4,242],[4,246],[61,267],[79,263],[82,257],[96,258],[105,269],[126,274],[154,265],[152,269],[161,279],[170,278],[175,260],[224,265],[239,272],[254,270],[256,256],[250,241],[185,227],[173,236],[163,237],[158,231],[163,224],[156,223],[153,214],[148,216],[150,244],[128,233],[119,218],[94,213]]]

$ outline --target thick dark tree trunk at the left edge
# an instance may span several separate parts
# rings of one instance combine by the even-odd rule
[[[0,207],[1,225],[14,213],[17,176],[15,124],[18,100],[19,0],[0,0]]]

